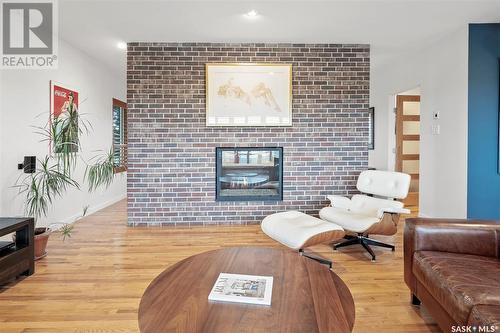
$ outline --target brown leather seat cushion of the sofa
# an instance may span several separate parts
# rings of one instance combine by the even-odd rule
[[[448,314],[465,325],[476,305],[500,305],[500,261],[448,252],[417,251],[413,273]]]

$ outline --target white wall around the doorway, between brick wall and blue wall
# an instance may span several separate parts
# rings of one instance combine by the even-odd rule
[[[370,105],[376,112],[377,148],[370,166],[394,169],[394,95],[421,88],[420,215],[467,215],[468,29],[446,36],[421,52],[372,70]],[[432,114],[440,112],[440,119]],[[433,124],[441,134],[433,135]],[[378,143],[378,145],[377,145]]]

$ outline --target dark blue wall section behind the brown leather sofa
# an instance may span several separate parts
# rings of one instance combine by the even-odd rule
[[[500,219],[500,24],[469,26],[467,215]]]

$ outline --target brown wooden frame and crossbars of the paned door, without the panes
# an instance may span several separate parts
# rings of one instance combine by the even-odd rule
[[[420,141],[420,134],[418,135],[403,135],[403,121],[420,121],[418,116],[404,116],[403,103],[404,102],[420,102],[420,96],[417,95],[396,95],[396,171],[403,170],[403,140],[405,137],[408,139],[413,138]],[[416,141],[415,140],[415,141]],[[407,155],[405,160],[420,160],[420,154]],[[420,170],[419,173],[420,175]]]

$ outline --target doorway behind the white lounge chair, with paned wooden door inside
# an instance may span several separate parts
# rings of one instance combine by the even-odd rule
[[[395,170],[411,176],[405,206],[418,210],[420,180],[420,93],[396,96],[396,165]]]

